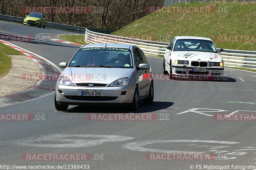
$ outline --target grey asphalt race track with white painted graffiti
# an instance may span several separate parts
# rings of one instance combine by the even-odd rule
[[[80,47],[40,39],[37,33],[70,32],[0,21],[1,35],[33,36],[31,42],[12,43],[56,65],[68,62]],[[148,57],[148,61],[153,73],[162,72],[162,58]],[[130,112],[125,107],[113,106],[70,106],[68,111],[56,111],[54,93],[0,107],[1,114],[25,113],[36,118],[0,121],[0,164],[175,170],[256,166],[255,121],[217,121],[213,116],[256,114],[255,81],[256,73],[233,69],[225,69],[223,82],[156,79],[154,103],[141,103],[135,112],[156,114],[155,121],[89,121],[87,115],[92,113]],[[87,153],[91,160],[29,160],[40,153]],[[184,154],[182,160],[153,160],[160,155],[156,153]],[[183,156],[188,153],[210,153],[216,157],[185,160]]]

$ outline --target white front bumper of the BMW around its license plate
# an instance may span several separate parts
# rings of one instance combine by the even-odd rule
[[[206,69],[206,72],[192,71],[193,68]],[[172,75],[175,76],[205,76],[205,77],[223,77],[224,67],[193,67],[193,66],[181,66],[172,65]]]

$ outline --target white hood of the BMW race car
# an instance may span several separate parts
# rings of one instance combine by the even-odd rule
[[[177,60],[189,60],[189,61],[207,61],[207,62],[222,61],[222,58],[218,53],[209,53],[209,52],[201,52],[201,51],[173,51],[172,57],[174,57]]]

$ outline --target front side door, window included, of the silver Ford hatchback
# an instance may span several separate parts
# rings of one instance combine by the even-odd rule
[[[137,68],[137,76],[139,80],[139,92],[140,92],[140,98],[144,97],[146,95],[148,85],[148,81],[146,79],[147,77],[147,69],[139,69],[139,65],[142,64],[142,59],[140,57],[139,48],[133,48],[133,54],[135,58],[136,68]]]

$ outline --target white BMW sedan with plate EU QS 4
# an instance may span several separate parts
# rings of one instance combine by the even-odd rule
[[[210,38],[177,36],[166,47],[163,73],[174,77],[201,76],[222,80],[224,62]],[[206,79],[205,79],[206,80]]]

